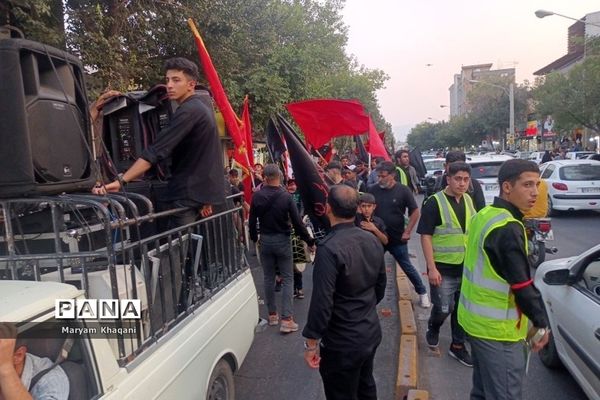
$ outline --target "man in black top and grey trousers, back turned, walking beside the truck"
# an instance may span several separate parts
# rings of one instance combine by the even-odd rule
[[[306,227],[302,224],[292,195],[281,187],[281,171],[275,164],[264,168],[263,187],[252,196],[250,205],[250,239],[258,241],[257,222],[260,224],[260,261],[263,268],[265,299],[269,310],[269,325],[279,324],[275,304],[275,270],[283,278],[280,332],[298,330],[293,318],[293,271],[290,219],[294,231],[309,246],[314,246]]]

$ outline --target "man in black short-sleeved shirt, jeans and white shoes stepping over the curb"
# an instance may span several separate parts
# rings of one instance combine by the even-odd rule
[[[377,208],[375,215],[383,220],[387,230],[388,244],[385,249],[396,259],[400,268],[415,287],[419,295],[421,307],[431,306],[427,288],[421,276],[408,255],[408,240],[419,220],[419,208],[410,189],[395,180],[396,167],[391,161],[384,161],[377,166],[377,185],[369,188],[369,193],[375,196]],[[405,214],[408,209],[408,224],[405,224]]]

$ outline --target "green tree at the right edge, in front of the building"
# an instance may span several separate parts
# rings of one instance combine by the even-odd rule
[[[536,82],[536,111],[552,115],[559,130],[585,127],[600,132],[600,39],[592,39],[585,59],[566,74],[552,72]]]

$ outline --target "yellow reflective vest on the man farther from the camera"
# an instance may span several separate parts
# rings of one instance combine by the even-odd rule
[[[444,192],[437,192],[432,198],[437,201],[442,224],[435,227],[432,237],[433,259],[435,262],[444,264],[462,264],[465,259],[465,247],[467,234],[471,224],[471,218],[476,214],[473,200],[468,194],[465,199],[465,232],[463,232],[458,217]],[[428,199],[427,201],[432,201]]]

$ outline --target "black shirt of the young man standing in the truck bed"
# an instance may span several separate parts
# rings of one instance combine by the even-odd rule
[[[171,179],[165,200],[201,204],[225,202],[223,150],[214,112],[192,95],[183,101],[156,141],[141,158],[156,164],[171,156]]]

